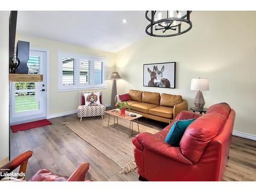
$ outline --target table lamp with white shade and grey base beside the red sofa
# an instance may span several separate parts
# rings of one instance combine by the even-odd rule
[[[204,108],[204,96],[202,91],[209,91],[209,80],[208,79],[201,79],[201,78],[193,78],[191,79],[191,86],[190,90],[196,90],[197,95],[194,100],[195,107],[197,109],[203,109]]]

